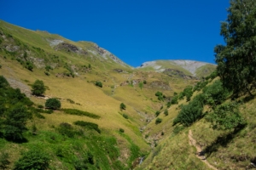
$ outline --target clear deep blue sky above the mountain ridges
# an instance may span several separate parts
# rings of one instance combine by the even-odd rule
[[[0,0],[0,19],[73,41],[96,42],[125,63],[214,63],[229,0]]]

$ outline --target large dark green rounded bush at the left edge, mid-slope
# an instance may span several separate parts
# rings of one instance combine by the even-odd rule
[[[7,139],[23,139],[22,133],[26,131],[26,121],[31,117],[26,107],[22,104],[16,104],[7,111],[3,126],[3,135]]]

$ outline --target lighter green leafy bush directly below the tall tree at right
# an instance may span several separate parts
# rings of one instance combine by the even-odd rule
[[[212,122],[213,129],[218,130],[239,128],[246,124],[245,119],[238,111],[236,103],[218,105],[214,111],[207,116],[207,120]]]

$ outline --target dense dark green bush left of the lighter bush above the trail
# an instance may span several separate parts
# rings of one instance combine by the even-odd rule
[[[193,122],[200,119],[203,110],[203,101],[201,95],[198,95],[189,102],[189,105],[183,105],[181,111],[179,111],[177,117],[173,121],[173,125],[177,123],[183,124],[184,127],[189,127]]]

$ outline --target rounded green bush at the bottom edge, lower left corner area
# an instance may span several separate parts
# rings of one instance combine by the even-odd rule
[[[29,150],[21,153],[21,157],[15,162],[15,170],[38,169],[45,170],[49,168],[49,156],[42,150]]]

